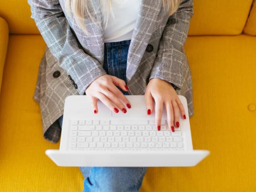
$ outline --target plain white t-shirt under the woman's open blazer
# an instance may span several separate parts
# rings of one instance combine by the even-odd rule
[[[101,0],[100,10],[108,6],[108,0]],[[112,0],[112,12],[106,28],[103,28],[104,42],[130,40],[139,13],[141,0]],[[113,16],[114,15],[114,16]]]

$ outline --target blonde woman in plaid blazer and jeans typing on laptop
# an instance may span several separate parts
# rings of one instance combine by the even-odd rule
[[[145,95],[160,130],[163,105],[170,131],[193,115],[190,68],[184,52],[193,0],[30,0],[46,42],[34,99],[44,138],[57,142],[68,95],[88,95],[126,113],[124,95]],[[155,106],[154,106],[154,102]],[[138,191],[147,167],[80,167],[86,191]]]

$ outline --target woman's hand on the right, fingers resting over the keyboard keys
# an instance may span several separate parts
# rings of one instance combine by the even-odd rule
[[[148,115],[154,111],[153,101],[155,101],[155,122],[158,130],[161,126],[163,104],[166,107],[167,123],[170,130],[174,131],[174,124],[175,127],[180,126],[180,111],[181,116],[186,119],[179,96],[171,83],[165,80],[153,78],[149,81],[145,91],[145,101]]]

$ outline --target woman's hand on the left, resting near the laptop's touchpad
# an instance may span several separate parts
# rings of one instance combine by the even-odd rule
[[[116,86],[119,86],[124,91],[129,90],[124,80],[107,74],[100,76],[87,87],[85,94],[91,99],[94,113],[98,113],[98,99],[115,113],[118,113],[118,109],[126,113],[125,106],[131,108],[131,103]]]

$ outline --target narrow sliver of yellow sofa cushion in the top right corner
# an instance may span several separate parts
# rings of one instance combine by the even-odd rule
[[[244,27],[244,33],[249,35],[256,35],[256,1],[252,5],[250,16],[248,17],[247,23]]]

